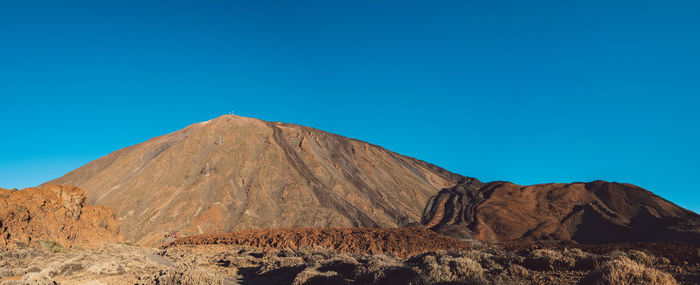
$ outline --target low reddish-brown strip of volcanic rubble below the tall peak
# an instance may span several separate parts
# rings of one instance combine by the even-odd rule
[[[463,250],[467,244],[423,228],[252,229],[179,238],[174,245],[235,244],[264,249],[319,246],[347,253],[393,253],[407,257],[435,250]]]

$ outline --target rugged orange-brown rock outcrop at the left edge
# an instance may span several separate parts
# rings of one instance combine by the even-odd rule
[[[0,247],[40,240],[64,247],[121,241],[114,211],[85,199],[83,190],[69,186],[0,189]]]

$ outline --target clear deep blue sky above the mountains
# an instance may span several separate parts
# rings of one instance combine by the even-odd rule
[[[0,187],[236,114],[700,212],[699,1],[0,2]]]

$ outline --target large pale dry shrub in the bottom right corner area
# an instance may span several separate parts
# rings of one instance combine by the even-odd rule
[[[673,277],[663,271],[646,267],[625,256],[603,262],[587,275],[581,284],[591,285],[630,285],[630,284],[678,284]]]

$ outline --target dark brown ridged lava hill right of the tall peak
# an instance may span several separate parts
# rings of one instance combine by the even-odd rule
[[[631,184],[520,186],[465,179],[431,198],[423,224],[487,241],[700,242],[700,216]]]

